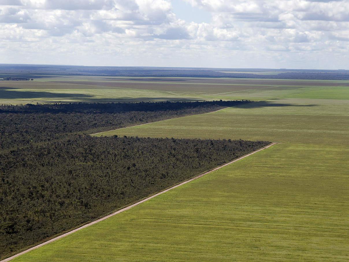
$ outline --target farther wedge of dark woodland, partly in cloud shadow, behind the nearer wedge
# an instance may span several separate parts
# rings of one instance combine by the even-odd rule
[[[68,103],[0,106],[0,150],[96,133],[250,101]]]

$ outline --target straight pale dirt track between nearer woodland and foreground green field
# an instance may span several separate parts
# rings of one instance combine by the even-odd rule
[[[10,261],[10,260],[14,259],[14,258],[17,257],[17,256],[20,256],[20,255],[23,255],[23,254],[25,254],[25,253],[28,253],[28,252],[31,251],[31,250],[37,249],[37,248],[39,248],[39,247],[42,247],[42,246],[44,246],[44,245],[46,245],[46,244],[49,244],[49,243],[51,243],[51,242],[53,242],[53,241],[55,241],[55,240],[64,238],[65,236],[70,235],[70,234],[72,234],[72,233],[74,233],[74,232],[76,232],[76,231],[79,231],[79,230],[81,230],[81,229],[83,229],[83,228],[85,228],[85,227],[92,226],[92,225],[94,225],[94,224],[96,224],[96,223],[98,223],[98,222],[100,222],[100,221],[103,221],[103,220],[105,220],[105,219],[107,219],[107,218],[110,218],[110,217],[112,217],[112,216],[115,216],[116,214],[119,214],[119,213],[121,213],[121,212],[123,212],[123,211],[126,211],[126,210],[128,210],[128,209],[130,209],[130,208],[133,208],[133,207],[136,206],[136,205],[139,205],[139,204],[141,204],[141,203],[143,203],[143,202],[146,202],[146,201],[148,201],[148,200],[151,199],[151,198],[154,198],[154,197],[156,197],[156,196],[158,196],[158,195],[161,195],[161,194],[163,194],[163,193],[165,193],[165,192],[167,192],[167,191],[169,191],[169,190],[171,190],[171,189],[174,189],[174,188],[179,187],[179,186],[181,186],[181,185],[184,185],[184,184],[186,184],[186,183],[188,183],[188,182],[191,182],[191,181],[193,181],[193,180],[195,180],[195,179],[198,179],[198,178],[200,178],[200,177],[202,177],[202,176],[204,176],[204,175],[207,175],[207,174],[209,174],[209,173],[211,173],[211,172],[214,172],[214,171],[216,171],[216,170],[218,170],[218,169],[220,169],[220,168],[222,168],[222,167],[228,166],[228,165],[230,165],[230,164],[232,164],[232,163],[234,163],[234,162],[236,162],[236,161],[239,161],[239,160],[241,160],[241,159],[243,159],[243,158],[246,158],[246,157],[248,157],[248,156],[250,156],[250,155],[253,155],[254,153],[257,153],[257,152],[259,152],[259,151],[262,151],[262,150],[264,150],[264,149],[266,149],[266,148],[268,148],[268,147],[270,147],[270,146],[273,146],[273,145],[275,145],[275,144],[278,144],[278,143],[271,143],[270,145],[265,146],[265,147],[263,147],[263,148],[261,148],[261,149],[259,149],[259,150],[253,151],[253,152],[250,153],[250,154],[244,155],[243,157],[240,157],[240,158],[238,158],[238,159],[235,159],[235,160],[233,160],[233,161],[231,161],[231,162],[229,162],[229,163],[226,163],[226,164],[224,164],[224,165],[222,165],[222,166],[216,167],[216,168],[214,168],[214,169],[212,169],[212,170],[210,170],[210,171],[208,171],[208,172],[206,172],[206,173],[203,173],[203,174],[201,174],[201,175],[198,175],[198,176],[196,176],[196,177],[194,177],[194,178],[192,178],[192,179],[190,179],[190,180],[187,180],[187,181],[182,182],[182,183],[180,183],[180,184],[178,184],[178,185],[175,185],[175,186],[173,186],[173,187],[171,187],[171,188],[169,188],[169,189],[166,189],[166,190],[164,190],[164,191],[161,191],[161,192],[159,192],[159,193],[157,193],[157,194],[155,194],[155,195],[153,195],[153,196],[150,196],[150,197],[148,197],[148,198],[145,198],[145,199],[143,199],[143,200],[141,200],[141,201],[139,201],[139,202],[137,202],[137,203],[135,203],[135,204],[133,204],[133,205],[129,205],[129,206],[127,206],[126,208],[120,209],[119,211],[116,211],[116,212],[114,212],[114,213],[112,213],[112,214],[109,214],[109,215],[107,215],[107,216],[105,216],[105,217],[99,218],[99,219],[97,219],[97,220],[95,220],[95,221],[93,221],[93,222],[91,222],[91,223],[88,223],[88,224],[83,225],[83,226],[81,226],[81,227],[79,227],[79,228],[76,228],[76,229],[74,229],[74,230],[72,230],[72,231],[69,231],[69,232],[67,232],[67,233],[65,233],[65,234],[62,234],[62,235],[60,235],[60,236],[57,236],[57,237],[55,237],[55,238],[53,238],[53,239],[50,239],[50,240],[48,240],[48,241],[46,241],[46,242],[44,242],[44,243],[41,243],[41,244],[39,244],[39,245],[37,245],[37,246],[31,247],[31,248],[29,248],[29,249],[27,249],[27,250],[24,250],[24,251],[22,251],[21,253],[18,253],[18,254],[16,254],[16,255],[13,255],[13,256],[11,256],[11,257],[8,257],[7,259],[1,260],[0,262],[7,262],[7,261]]]

